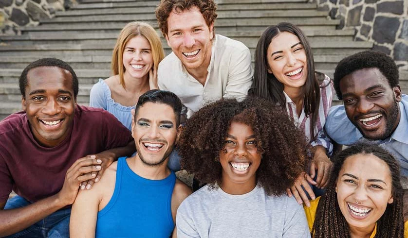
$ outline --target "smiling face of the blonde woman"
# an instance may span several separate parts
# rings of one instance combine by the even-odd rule
[[[131,38],[123,51],[124,75],[132,78],[147,78],[153,66],[153,56],[148,40],[137,35]]]

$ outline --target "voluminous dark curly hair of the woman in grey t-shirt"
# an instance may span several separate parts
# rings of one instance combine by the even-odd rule
[[[268,195],[281,195],[305,169],[306,138],[274,103],[249,97],[242,102],[220,100],[187,120],[179,140],[182,168],[203,183],[221,184],[220,151],[232,121],[252,127],[261,154],[258,185]]]

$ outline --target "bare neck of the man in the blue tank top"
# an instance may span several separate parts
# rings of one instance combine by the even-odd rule
[[[135,156],[128,159],[129,168],[142,178],[150,180],[161,180],[170,175],[170,170],[167,168],[168,158],[164,163],[158,166],[148,166],[140,159],[136,153]]]

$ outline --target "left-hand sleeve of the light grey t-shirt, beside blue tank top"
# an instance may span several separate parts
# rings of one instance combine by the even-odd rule
[[[188,199],[188,198],[187,198]],[[188,209],[187,201],[183,201],[177,209],[176,228],[178,238],[200,238],[192,217],[193,211]]]

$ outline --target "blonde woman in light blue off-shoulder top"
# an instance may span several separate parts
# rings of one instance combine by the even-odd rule
[[[113,114],[129,130],[139,96],[157,89],[157,67],[164,58],[159,35],[149,24],[130,22],[120,32],[112,53],[113,76],[93,85],[90,106]]]

